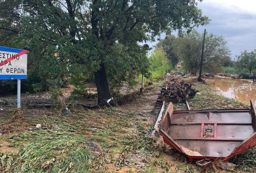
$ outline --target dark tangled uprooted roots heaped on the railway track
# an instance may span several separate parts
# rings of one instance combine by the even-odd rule
[[[186,99],[193,98],[197,92],[193,89],[193,84],[186,83],[181,79],[171,79],[165,83],[166,87],[162,88],[163,100],[167,102],[185,102]]]

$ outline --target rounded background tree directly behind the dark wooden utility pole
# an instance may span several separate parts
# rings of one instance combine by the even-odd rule
[[[200,68],[203,33],[192,31],[184,37],[178,37],[173,44],[176,55],[183,61],[184,68],[197,74]],[[223,60],[230,56],[230,50],[223,36],[206,34],[203,58],[203,71],[217,73],[223,66]]]

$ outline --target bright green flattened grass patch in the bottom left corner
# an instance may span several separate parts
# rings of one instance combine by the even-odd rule
[[[86,138],[68,131],[37,130],[11,135],[11,147],[21,147],[18,155],[2,154],[4,172],[48,173],[86,172],[92,158]],[[11,160],[11,161],[10,161]],[[8,164],[11,166],[8,166]]]

